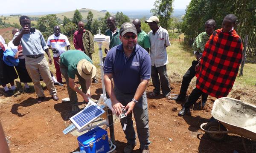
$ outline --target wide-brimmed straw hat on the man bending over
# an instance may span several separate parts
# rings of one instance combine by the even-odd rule
[[[77,64],[77,71],[84,79],[92,79],[96,75],[96,67],[86,59],[81,59]]]

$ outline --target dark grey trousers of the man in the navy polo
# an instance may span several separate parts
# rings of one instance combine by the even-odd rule
[[[134,94],[124,94],[115,88],[116,99],[121,102],[122,105],[126,106],[131,99],[134,98]],[[134,106],[133,114],[136,122],[138,138],[140,141],[140,148],[148,147],[149,141],[149,128],[148,128],[148,101],[147,95],[144,92],[143,95],[138,100],[139,103]],[[129,144],[134,144],[136,142],[136,133],[133,126],[133,121],[131,119],[132,113],[128,114],[126,117],[120,119],[122,128],[126,123],[125,138]]]

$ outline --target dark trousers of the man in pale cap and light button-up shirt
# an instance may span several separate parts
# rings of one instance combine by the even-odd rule
[[[163,96],[168,96],[170,94],[171,88],[169,86],[166,65],[157,68],[151,65],[151,79],[154,85],[154,93],[160,94],[160,91],[162,90]]]

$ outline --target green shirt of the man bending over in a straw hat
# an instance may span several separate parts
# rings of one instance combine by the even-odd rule
[[[61,54],[61,65],[67,67],[67,75],[75,79],[77,73],[77,64],[81,59],[86,59],[93,64],[93,61],[84,52],[79,50],[69,50]]]

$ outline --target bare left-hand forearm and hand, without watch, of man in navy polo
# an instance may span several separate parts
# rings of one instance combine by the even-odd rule
[[[116,115],[122,114],[122,108],[125,108],[117,99],[116,95],[114,93],[113,83],[111,82],[112,74],[104,74],[104,83],[105,88],[110,96],[111,103],[112,103],[112,111],[113,113],[116,113]]]

